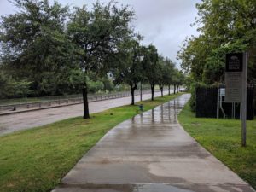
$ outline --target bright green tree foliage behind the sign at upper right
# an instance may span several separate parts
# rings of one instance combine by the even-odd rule
[[[186,38],[177,58],[195,81],[206,84],[224,83],[225,55],[249,52],[248,80],[255,82],[256,12],[254,0],[197,3],[199,17],[194,25],[199,37]]]

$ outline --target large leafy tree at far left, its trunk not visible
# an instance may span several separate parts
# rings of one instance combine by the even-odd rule
[[[2,16],[0,24],[3,67],[15,80],[32,82],[37,95],[55,94],[58,79],[73,67],[73,45],[65,32],[68,9],[47,0],[13,3],[19,11]]]

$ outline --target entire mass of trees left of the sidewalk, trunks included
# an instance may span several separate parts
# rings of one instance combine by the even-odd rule
[[[111,77],[114,84],[131,87],[180,85],[183,74],[153,44],[141,45],[142,36],[131,27],[135,13],[128,6],[96,2],[91,10],[48,0],[14,0],[20,10],[1,20],[1,76],[29,84],[38,95],[45,90],[82,90],[84,118],[90,118],[88,82]],[[2,78],[4,79],[4,78]],[[4,81],[3,81],[4,84]],[[49,87],[50,86],[50,87]]]

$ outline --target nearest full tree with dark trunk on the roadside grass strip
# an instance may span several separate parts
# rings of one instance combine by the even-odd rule
[[[76,55],[85,77],[90,72],[100,77],[108,73],[110,57],[116,54],[123,38],[131,33],[129,23],[133,16],[128,7],[119,9],[113,2],[106,6],[96,2],[92,11],[85,6],[75,8],[68,23],[68,34],[77,46]],[[87,93],[84,78],[84,119],[90,118]]]

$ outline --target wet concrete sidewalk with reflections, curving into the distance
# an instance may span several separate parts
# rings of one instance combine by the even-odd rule
[[[117,125],[54,192],[253,192],[177,122],[189,95]]]

